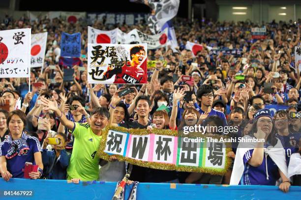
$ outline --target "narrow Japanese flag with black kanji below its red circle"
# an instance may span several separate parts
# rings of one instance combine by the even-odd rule
[[[44,64],[47,32],[31,35],[30,67],[42,67]]]

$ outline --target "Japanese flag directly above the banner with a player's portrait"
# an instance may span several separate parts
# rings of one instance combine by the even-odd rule
[[[89,44],[117,44],[117,34],[119,28],[113,30],[98,30],[88,26]]]

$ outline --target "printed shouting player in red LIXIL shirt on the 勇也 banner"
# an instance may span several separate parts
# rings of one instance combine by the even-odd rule
[[[134,46],[130,49],[130,59],[125,63],[121,69],[114,68],[108,70],[105,75],[107,79],[115,76],[114,83],[146,83],[147,82],[147,73],[146,73],[146,64],[145,69],[141,67],[146,58],[146,50],[143,46]]]

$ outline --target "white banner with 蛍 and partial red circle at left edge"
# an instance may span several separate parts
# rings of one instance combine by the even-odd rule
[[[29,77],[30,28],[0,31],[0,77]]]

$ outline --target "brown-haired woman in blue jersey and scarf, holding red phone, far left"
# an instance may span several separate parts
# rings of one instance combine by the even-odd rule
[[[7,118],[9,137],[0,145],[0,173],[4,180],[11,177],[23,178],[26,162],[38,165],[37,172],[30,172],[32,179],[43,173],[43,163],[39,140],[25,134],[26,115],[21,110],[10,112]]]

